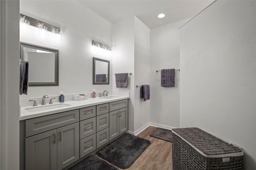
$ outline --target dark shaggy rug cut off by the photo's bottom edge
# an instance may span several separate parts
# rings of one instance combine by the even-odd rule
[[[97,156],[88,156],[68,170],[118,170],[118,168],[108,164]]]

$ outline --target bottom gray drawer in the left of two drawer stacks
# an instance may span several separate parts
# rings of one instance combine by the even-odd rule
[[[96,133],[80,140],[80,158],[96,149]]]

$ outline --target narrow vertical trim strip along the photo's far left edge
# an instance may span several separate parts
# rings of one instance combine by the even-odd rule
[[[6,0],[0,0],[0,169],[7,169],[6,145]]]

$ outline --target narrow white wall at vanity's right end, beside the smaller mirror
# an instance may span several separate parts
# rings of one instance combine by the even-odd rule
[[[128,88],[116,88],[116,79],[112,79],[112,89],[130,91],[128,101],[128,130],[134,131],[134,17],[121,20],[112,27],[112,76],[115,73],[128,75]]]

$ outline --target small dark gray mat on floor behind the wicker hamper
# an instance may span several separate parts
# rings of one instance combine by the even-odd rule
[[[172,130],[167,130],[164,128],[156,128],[149,136],[154,138],[166,140],[172,142]]]

